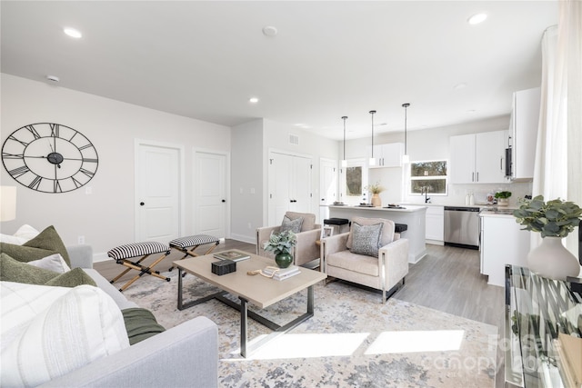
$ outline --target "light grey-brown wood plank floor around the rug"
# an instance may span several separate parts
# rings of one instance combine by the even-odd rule
[[[204,254],[203,248],[198,248],[196,253]],[[505,291],[503,287],[488,285],[487,277],[479,274],[479,252],[430,244],[426,248],[428,254],[420,262],[410,265],[405,287],[393,297],[477,322],[493,324],[497,326],[499,335],[503,335]],[[254,244],[236,240],[226,240],[216,247],[215,252],[225,249],[256,252]],[[180,254],[173,252],[157,264],[156,269],[166,271],[180,257]],[[95,269],[106,279],[113,279],[124,268],[113,260],[95,263]],[[130,271],[115,285],[121,286],[124,280],[135,274],[135,271]],[[497,359],[501,360],[500,352]],[[503,371],[503,367],[500,370]],[[496,381],[497,387],[504,386],[503,372],[497,373]]]

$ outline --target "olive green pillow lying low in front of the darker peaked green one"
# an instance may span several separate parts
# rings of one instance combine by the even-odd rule
[[[0,280],[25,284],[59,285],[61,287],[76,287],[81,284],[96,286],[91,276],[81,268],[59,274],[55,271],[19,262],[5,253],[0,254]]]

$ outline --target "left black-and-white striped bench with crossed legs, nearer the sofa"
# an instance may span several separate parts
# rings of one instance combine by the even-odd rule
[[[149,265],[141,264],[147,257],[152,254],[159,254],[159,257],[156,258],[154,263]],[[121,274],[115,276],[115,278],[109,282],[114,284],[117,280],[119,280],[123,275],[127,274],[131,270],[139,271],[139,274],[136,274],[134,278],[132,278],[129,282],[125,283],[120,289],[120,292],[123,292],[127,287],[133,284],[137,279],[139,279],[144,274],[151,274],[152,276],[156,276],[160,279],[166,280],[166,282],[170,281],[169,277],[166,277],[159,273],[159,271],[153,271],[152,269],[160,263],[164,258],[170,254],[170,248],[166,244],[156,243],[154,241],[148,241],[145,243],[134,243],[134,244],[125,244],[120,245],[113,248],[111,251],[107,252],[107,256],[111,257],[115,260],[117,264],[124,265],[127,267]],[[139,260],[131,261],[129,259],[133,257],[140,257]]]

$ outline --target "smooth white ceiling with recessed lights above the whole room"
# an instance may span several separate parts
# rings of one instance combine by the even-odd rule
[[[2,1],[2,72],[225,125],[341,139],[508,114],[556,1]],[[487,20],[467,18],[486,12]],[[274,37],[263,35],[276,26]],[[75,40],[65,26],[83,33]],[[465,84],[464,88],[456,85]],[[249,104],[256,96],[258,104]]]

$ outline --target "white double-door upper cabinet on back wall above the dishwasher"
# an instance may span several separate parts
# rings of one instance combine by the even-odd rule
[[[506,131],[450,137],[451,184],[503,184]]]

